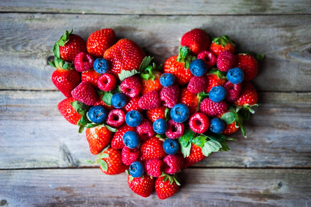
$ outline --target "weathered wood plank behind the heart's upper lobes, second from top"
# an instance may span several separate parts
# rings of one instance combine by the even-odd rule
[[[145,46],[158,63],[176,54],[179,38],[194,27],[227,34],[240,52],[266,55],[254,80],[263,91],[309,91],[311,88],[311,16],[111,16],[0,14],[0,89],[55,89],[47,58],[65,29],[87,38],[111,27],[118,38]],[[8,72],[10,71],[10,72]]]

